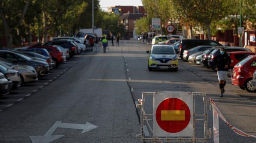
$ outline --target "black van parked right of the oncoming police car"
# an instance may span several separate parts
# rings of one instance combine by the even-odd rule
[[[184,50],[189,50],[200,45],[221,46],[221,44],[212,40],[181,39],[179,47],[180,58],[183,59]]]

